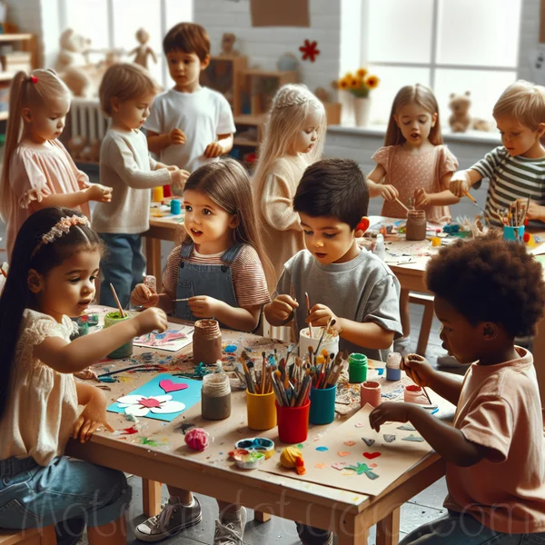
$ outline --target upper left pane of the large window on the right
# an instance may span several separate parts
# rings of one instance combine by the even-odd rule
[[[433,0],[369,0],[369,61],[430,63]]]

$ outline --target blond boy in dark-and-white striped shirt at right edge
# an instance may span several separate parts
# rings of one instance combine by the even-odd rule
[[[450,189],[463,197],[472,186],[490,179],[485,213],[490,224],[502,226],[496,211],[530,197],[528,219],[545,222],[545,87],[523,80],[511,84],[494,105],[501,144],[470,169],[455,173]]]

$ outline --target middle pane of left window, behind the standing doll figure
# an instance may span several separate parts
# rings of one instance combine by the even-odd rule
[[[146,45],[154,50],[157,60],[162,57],[161,2],[160,0],[114,0],[114,47],[131,51],[139,45],[136,31],[144,28],[150,35]],[[128,60],[134,60],[134,55]],[[158,83],[163,81],[161,63],[147,56],[147,66]]]

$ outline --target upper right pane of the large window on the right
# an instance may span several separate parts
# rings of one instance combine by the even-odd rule
[[[439,0],[437,62],[516,68],[521,0]]]

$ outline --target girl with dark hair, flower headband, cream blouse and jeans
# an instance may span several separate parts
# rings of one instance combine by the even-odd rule
[[[68,316],[93,301],[102,249],[82,213],[39,210],[17,234],[0,298],[0,528],[55,524],[59,545],[74,543],[84,524],[90,545],[126,543],[131,500],[122,471],[64,456],[70,437],[89,441],[98,426],[114,431],[104,393],[73,373],[136,332],[167,325],[163,311],[149,309],[70,342]]]

